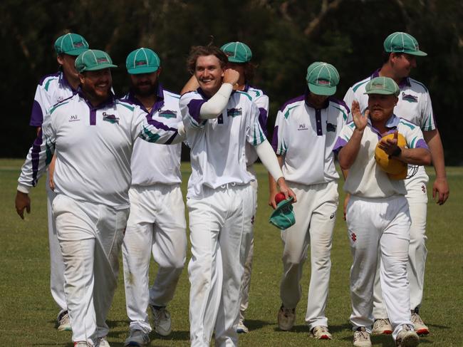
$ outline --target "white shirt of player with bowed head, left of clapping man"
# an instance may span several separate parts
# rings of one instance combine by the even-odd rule
[[[316,185],[339,178],[333,146],[350,113],[335,98],[324,108],[313,108],[306,95],[286,102],[276,115],[272,146],[283,155],[283,175],[287,181]]]

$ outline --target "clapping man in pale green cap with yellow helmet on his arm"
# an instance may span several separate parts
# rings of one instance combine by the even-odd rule
[[[353,102],[353,122],[341,130],[334,150],[340,167],[349,170],[344,190],[350,194],[346,220],[353,264],[350,298],[353,345],[369,347],[373,325],[373,285],[378,252],[380,282],[396,346],[417,346],[410,314],[407,257],[410,212],[403,180],[394,180],[375,161],[375,147],[390,158],[412,165],[430,165],[431,154],[420,127],[394,114],[400,89],[392,78],[377,77],[366,83],[368,109],[360,112]],[[393,139],[382,140],[393,133]],[[398,147],[397,133],[406,146]],[[379,244],[379,248],[378,248]]]

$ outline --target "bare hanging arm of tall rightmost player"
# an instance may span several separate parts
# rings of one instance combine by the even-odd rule
[[[437,204],[444,204],[449,198],[449,184],[445,173],[444,147],[439,130],[423,131],[423,137],[430,147],[432,165],[436,172],[436,179],[432,185],[432,198],[437,196]]]

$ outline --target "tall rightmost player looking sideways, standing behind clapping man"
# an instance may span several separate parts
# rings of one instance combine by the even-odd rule
[[[432,165],[436,172],[436,179],[432,187],[432,197],[438,204],[444,204],[449,197],[449,185],[445,173],[444,150],[440,140],[439,130],[435,123],[432,111],[430,93],[422,83],[410,78],[410,71],[417,66],[416,57],[426,56],[420,51],[417,40],[408,33],[391,33],[384,41],[383,66],[375,71],[372,76],[355,83],[345,94],[344,101],[352,105],[353,100],[360,104],[360,111],[364,112],[368,107],[368,96],[365,95],[365,86],[372,78],[385,76],[392,78],[399,86],[395,115],[418,125],[423,133],[432,155]],[[413,167],[410,167],[412,172]],[[410,249],[408,254],[408,279],[410,281],[410,309],[415,331],[424,335],[429,333],[429,328],[419,316],[422,303],[425,281],[426,263],[426,212],[427,192],[426,185],[429,180],[424,167],[417,167],[416,175],[405,180],[407,198],[412,218],[410,227]],[[378,273],[378,271],[377,271]],[[391,333],[390,321],[383,304],[379,276],[375,281],[375,326],[373,333]]]

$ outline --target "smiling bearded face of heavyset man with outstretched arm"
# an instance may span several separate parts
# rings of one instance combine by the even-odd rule
[[[79,74],[82,90],[90,102],[95,105],[108,99],[113,86],[113,77],[109,68],[96,71],[84,71]]]

